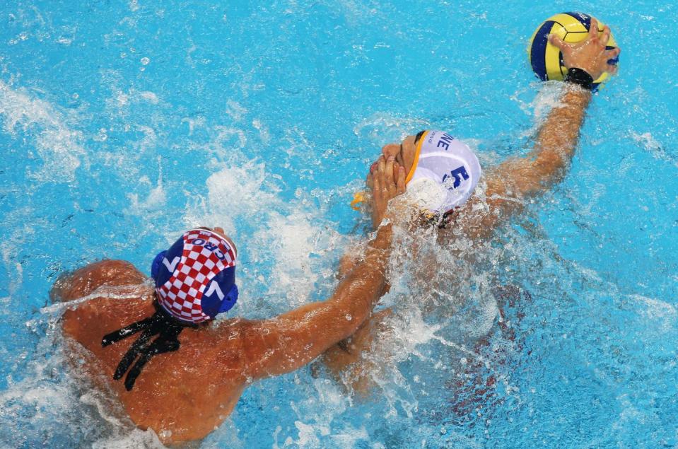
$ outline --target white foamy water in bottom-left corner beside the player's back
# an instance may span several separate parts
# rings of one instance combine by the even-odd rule
[[[85,299],[85,298],[83,298]],[[0,393],[0,443],[7,447],[52,445],[93,448],[164,448],[153,431],[134,427],[110,392],[93,390],[90,381],[74,369],[65,351],[81,351],[61,334],[64,304],[55,304],[26,323],[40,336],[36,354],[19,380],[10,378]],[[71,304],[69,304],[71,305]],[[71,354],[72,355],[72,354]],[[82,358],[88,354],[81,354]],[[17,417],[21,420],[17,421]]]

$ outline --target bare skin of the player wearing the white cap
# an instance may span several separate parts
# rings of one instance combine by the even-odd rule
[[[604,72],[616,74],[617,66],[608,64],[609,59],[619,56],[620,49],[607,50],[610,30],[606,26],[600,36],[598,23],[592,18],[588,37],[577,44],[568,44],[555,35],[549,40],[561,52],[568,68],[577,67],[588,72],[593,79]],[[566,86],[559,106],[549,113],[546,122],[539,129],[534,150],[524,158],[511,158],[485,173],[486,197],[472,197],[450,217],[454,223],[439,233],[441,241],[455,238],[453,233],[461,233],[472,240],[490,238],[493,232],[504,221],[517,214],[525,206],[527,199],[547,192],[566,174],[579,140],[580,129],[584,121],[586,108],[591,100],[591,93],[578,86]],[[382,154],[395,156],[396,160],[409,172],[414,164],[414,136],[407,136],[402,144],[388,144],[382,148]],[[372,177],[378,163],[370,168],[367,184],[371,185]],[[380,206],[373,210],[376,217],[373,223],[378,224]],[[483,210],[483,213],[478,213]],[[344,259],[342,269],[350,269],[353,260]],[[382,292],[383,293],[383,292]],[[373,346],[375,335],[384,327],[384,318],[390,314],[384,310],[375,314],[369,322],[356,334],[339,345],[329,349],[323,361],[336,378],[349,379],[356,392],[366,393],[370,381],[366,373],[375,372],[370,358],[363,358]]]

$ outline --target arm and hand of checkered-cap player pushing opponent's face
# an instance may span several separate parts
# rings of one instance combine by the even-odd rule
[[[405,189],[404,169],[393,158],[380,162],[375,178],[375,202],[388,200]],[[395,175],[394,175],[395,174]],[[386,213],[385,206],[382,213]],[[252,378],[279,375],[296,370],[322,354],[333,344],[349,337],[370,316],[385,285],[390,257],[391,225],[380,226],[368,245],[365,257],[341,281],[332,298],[304,305],[271,320],[254,322],[248,341],[248,363]]]

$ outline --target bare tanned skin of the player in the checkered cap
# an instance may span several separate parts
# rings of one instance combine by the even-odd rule
[[[384,218],[389,200],[404,192],[404,169],[394,158],[381,158],[374,178],[375,204]],[[214,231],[223,235],[221,228]],[[129,262],[103,260],[58,281],[51,296],[56,301],[90,296],[74,303],[62,320],[74,369],[117,396],[136,426],[152,428],[165,444],[185,443],[219,426],[253,381],[294,371],[356,331],[384,289],[391,235],[390,225],[378,228],[363,259],[327,301],[269,320],[235,317],[186,328],[179,336],[180,349],[153,357],[131,391],[112,376],[134,339],[105,348],[101,339],[156,311],[146,276]],[[136,289],[138,298],[104,297],[107,289],[117,287]]]

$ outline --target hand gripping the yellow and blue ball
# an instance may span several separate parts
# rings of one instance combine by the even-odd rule
[[[608,61],[619,56],[621,49],[606,49],[609,34],[610,30],[606,25],[599,36],[598,21],[591,18],[589,33],[585,40],[571,44],[552,34],[549,41],[561,50],[563,62],[568,69],[585,70],[593,79],[597,79],[606,71],[611,75],[617,71],[616,64],[608,64]]]

